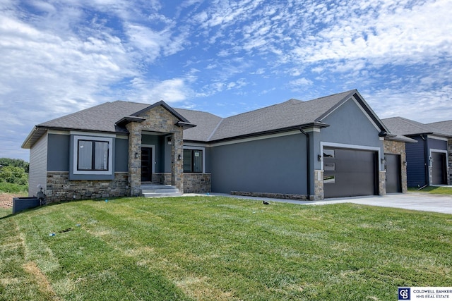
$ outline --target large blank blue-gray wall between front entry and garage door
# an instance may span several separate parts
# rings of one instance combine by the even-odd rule
[[[301,133],[212,147],[212,191],[306,195],[306,151]]]

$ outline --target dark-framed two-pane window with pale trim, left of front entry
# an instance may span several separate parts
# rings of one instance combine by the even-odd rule
[[[78,140],[77,170],[108,171],[109,142]]]

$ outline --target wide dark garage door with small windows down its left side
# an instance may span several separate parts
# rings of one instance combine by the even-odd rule
[[[323,149],[325,197],[376,195],[377,153],[361,149]]]

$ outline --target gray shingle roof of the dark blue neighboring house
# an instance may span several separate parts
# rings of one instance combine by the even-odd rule
[[[398,135],[420,135],[431,134],[447,137],[448,133],[434,128],[432,125],[427,125],[417,121],[412,121],[403,117],[392,117],[381,119],[381,121],[388,127],[389,131]]]

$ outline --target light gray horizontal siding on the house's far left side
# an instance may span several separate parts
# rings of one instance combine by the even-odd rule
[[[28,196],[36,195],[37,185],[41,185],[44,190],[47,189],[47,133],[30,149],[28,177]]]

